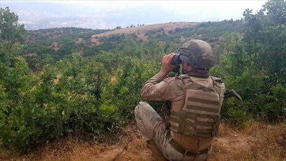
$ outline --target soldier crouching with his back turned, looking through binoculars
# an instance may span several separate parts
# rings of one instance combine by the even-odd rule
[[[164,119],[147,102],[140,101],[135,107],[136,122],[155,158],[206,160],[213,137],[218,135],[225,85],[209,76],[213,57],[207,42],[185,42],[178,59],[183,74],[164,79],[176,67],[171,64],[175,55],[164,56],[161,71],[141,89],[145,99],[169,102]]]

